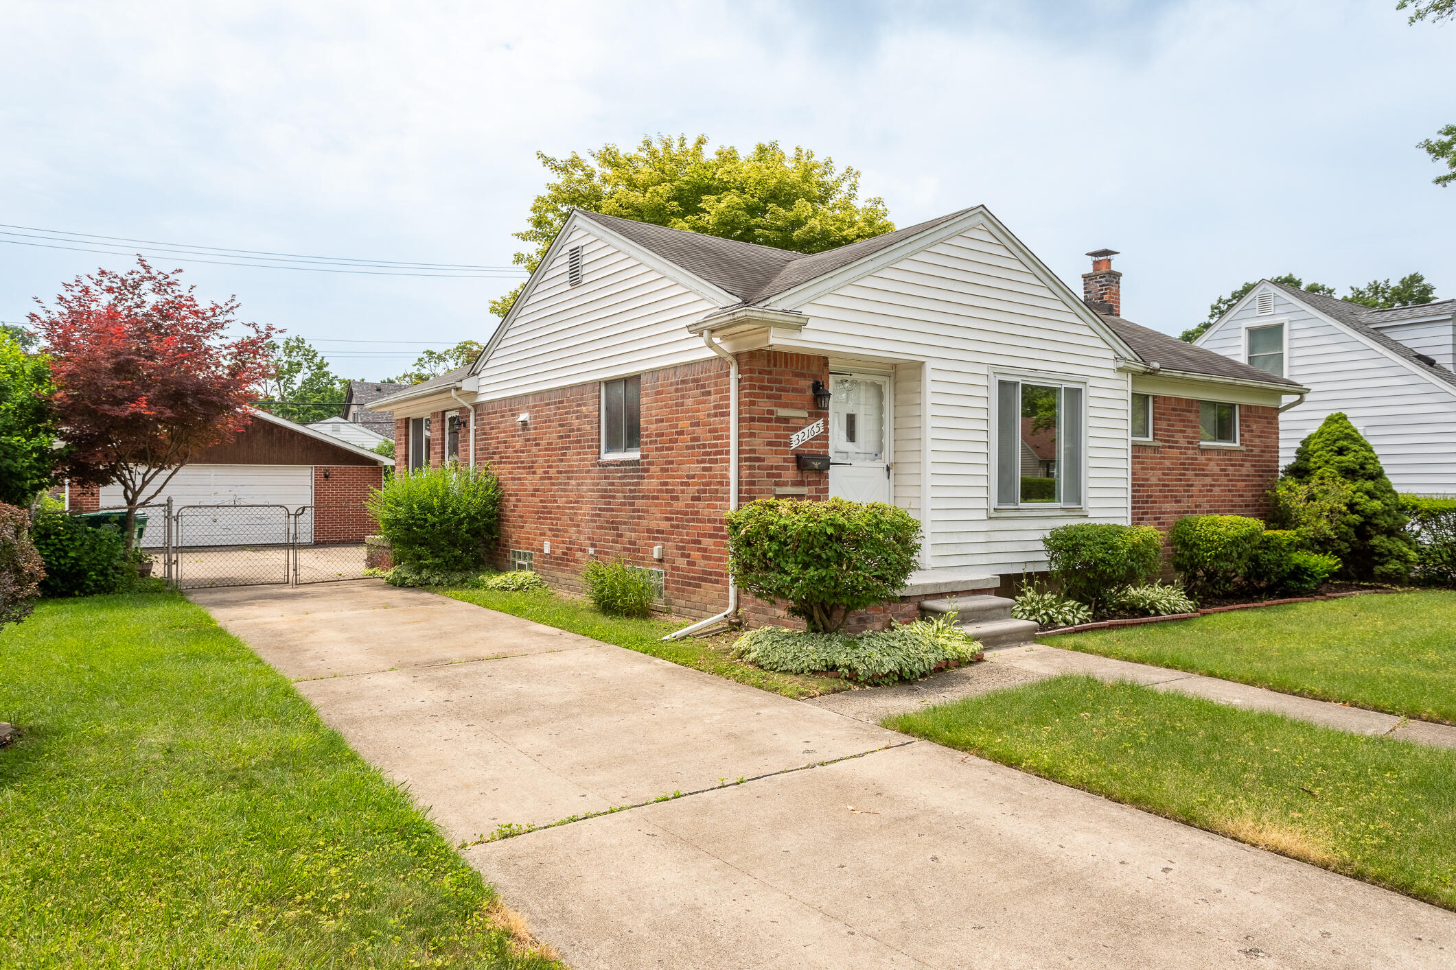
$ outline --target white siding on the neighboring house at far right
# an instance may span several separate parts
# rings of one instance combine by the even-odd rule
[[[1286,320],[1286,374],[1310,388],[1303,404],[1280,414],[1280,465],[1328,414],[1344,412],[1398,490],[1456,494],[1456,385],[1431,381],[1283,292],[1274,294],[1274,313]],[[1249,301],[1198,345],[1242,359],[1243,329],[1257,323]]]

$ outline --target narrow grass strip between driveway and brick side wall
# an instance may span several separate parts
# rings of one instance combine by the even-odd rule
[[[476,606],[498,609],[513,617],[523,617],[547,627],[569,630],[593,640],[613,643],[628,650],[671,660],[684,668],[716,673],[718,676],[738,681],[748,686],[782,694],[783,697],[820,697],[849,689],[849,684],[839,678],[775,673],[773,670],[760,670],[756,666],[734,660],[728,656],[731,637],[716,637],[715,640],[695,640],[689,637],[664,641],[662,637],[665,634],[683,627],[681,621],[607,617],[584,599],[568,599],[549,589],[539,589],[529,593],[504,593],[485,589],[437,589],[435,592],[451,599],[475,604]]]

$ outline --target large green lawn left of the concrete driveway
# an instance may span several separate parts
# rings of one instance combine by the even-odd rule
[[[0,631],[0,966],[549,967],[406,794],[173,593]]]

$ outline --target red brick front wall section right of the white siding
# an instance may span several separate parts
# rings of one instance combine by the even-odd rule
[[[1198,446],[1198,401],[1153,398],[1153,441],[1133,445],[1133,522],[1165,532],[1185,515],[1268,512],[1278,477],[1278,409],[1239,406],[1239,448]]]

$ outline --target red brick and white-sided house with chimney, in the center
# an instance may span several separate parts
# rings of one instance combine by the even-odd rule
[[[1079,297],[984,207],[815,254],[577,211],[472,366],[371,407],[566,588],[626,557],[718,614],[725,510],[844,496],[922,522],[907,598],[986,590],[1059,525],[1262,510],[1305,388],[1117,316],[1114,254]]]

